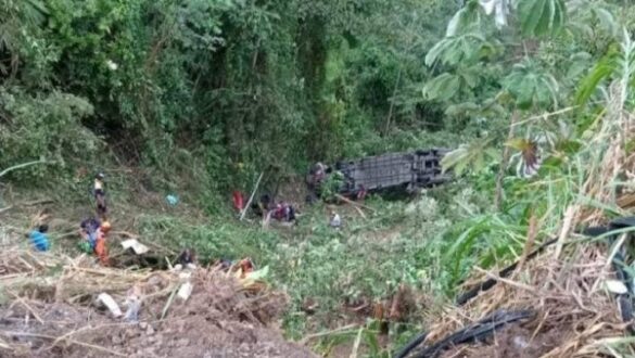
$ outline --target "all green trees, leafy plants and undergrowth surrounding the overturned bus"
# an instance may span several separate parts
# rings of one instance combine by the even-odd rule
[[[570,206],[619,214],[615,189],[632,184],[598,172],[612,139],[622,157],[635,149],[634,29],[635,7],[612,0],[0,0],[0,172],[41,161],[0,180],[54,184],[67,205],[88,205],[99,169],[115,203],[178,192],[204,223],[151,212],[134,229],[269,266],[297,338],[402,283],[447,303],[474,265],[517,257],[532,220],[543,240]],[[342,208],[342,230],[326,204],[293,229],[231,217],[228,193],[259,172],[274,190],[315,161],[431,146],[456,149],[456,182],[371,196],[366,217]],[[386,356],[435,307],[386,349],[370,322],[365,345]]]

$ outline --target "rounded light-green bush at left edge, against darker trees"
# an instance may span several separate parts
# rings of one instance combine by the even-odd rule
[[[60,92],[29,95],[0,87],[0,168],[37,159],[50,164],[14,171],[14,178],[60,176],[68,161],[97,157],[102,143],[81,125],[93,112],[85,99]]]

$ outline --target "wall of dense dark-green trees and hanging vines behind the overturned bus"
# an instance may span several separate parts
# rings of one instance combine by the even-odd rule
[[[114,154],[162,177],[202,166],[217,192],[265,169],[435,144],[416,140],[446,120],[420,95],[421,61],[456,9],[2,0],[0,167],[41,157],[23,177],[59,176]]]

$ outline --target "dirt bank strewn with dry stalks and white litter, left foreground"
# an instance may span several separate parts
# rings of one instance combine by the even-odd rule
[[[288,297],[262,272],[93,265],[84,255],[2,252],[0,356],[314,357],[277,330]]]

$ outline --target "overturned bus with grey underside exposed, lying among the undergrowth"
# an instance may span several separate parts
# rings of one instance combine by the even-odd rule
[[[352,161],[340,161],[332,167],[316,164],[307,176],[312,196],[319,197],[322,184],[338,175],[336,193],[347,197],[363,197],[367,193],[388,189],[408,192],[417,188],[434,187],[450,180],[442,172],[441,159],[447,149],[386,153]]]

